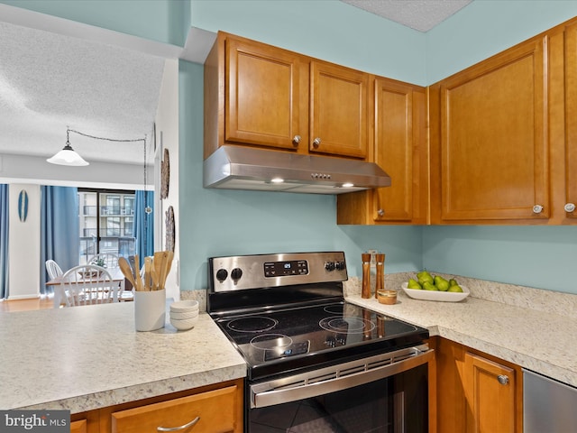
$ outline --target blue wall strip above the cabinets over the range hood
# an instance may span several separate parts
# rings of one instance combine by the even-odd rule
[[[426,86],[426,35],[338,0],[193,0],[193,26]]]

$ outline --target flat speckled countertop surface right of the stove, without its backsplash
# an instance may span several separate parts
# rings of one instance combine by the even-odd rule
[[[347,300],[426,327],[431,336],[497,356],[557,381],[577,386],[577,318],[469,296],[459,302],[411,299],[399,290],[395,305],[359,295]],[[568,306],[571,307],[571,306]]]

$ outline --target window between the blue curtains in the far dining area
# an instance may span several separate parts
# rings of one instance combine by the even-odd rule
[[[134,254],[134,191],[78,189],[78,206],[78,263],[97,253]]]

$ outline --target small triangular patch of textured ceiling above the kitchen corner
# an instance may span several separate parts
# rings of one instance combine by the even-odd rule
[[[391,21],[428,32],[472,0],[342,0]]]

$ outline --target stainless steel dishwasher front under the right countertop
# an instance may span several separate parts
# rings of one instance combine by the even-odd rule
[[[524,433],[569,433],[577,428],[577,388],[523,369]]]

